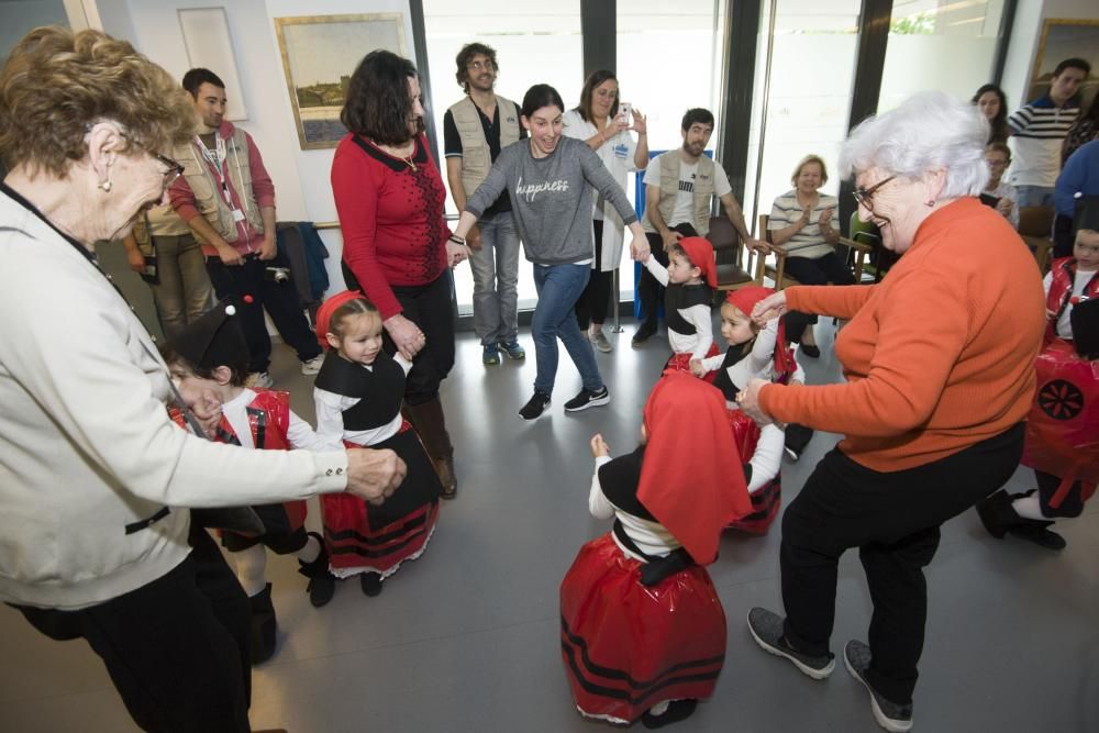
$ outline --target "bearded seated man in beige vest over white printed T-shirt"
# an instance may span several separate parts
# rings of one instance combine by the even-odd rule
[[[679,130],[682,147],[657,155],[645,169],[642,226],[653,256],[665,267],[668,266],[669,246],[685,236],[709,234],[711,197],[714,196],[741,238],[753,249],[763,246],[750,236],[725,171],[702,154],[712,133],[712,112],[701,108],[687,110]],[[656,278],[642,269],[637,291],[645,320],[633,334],[634,346],[656,333],[656,306],[663,299],[663,290]]]

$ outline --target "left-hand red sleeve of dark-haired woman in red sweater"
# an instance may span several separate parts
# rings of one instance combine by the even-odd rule
[[[343,232],[343,259],[355,274],[363,295],[386,320],[402,309],[378,262],[378,196],[385,174],[348,141],[344,138],[332,158],[332,195]]]

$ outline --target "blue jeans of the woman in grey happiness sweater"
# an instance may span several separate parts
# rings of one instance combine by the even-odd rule
[[[588,265],[534,265],[534,287],[539,291],[539,304],[534,308],[534,320],[531,321],[539,369],[534,377],[535,391],[553,393],[557,376],[557,338],[564,342],[565,349],[579,370],[584,388],[593,392],[603,388],[603,378],[599,376],[599,367],[596,365],[596,353],[591,349],[591,342],[580,333],[574,310],[588,285],[590,273]]]

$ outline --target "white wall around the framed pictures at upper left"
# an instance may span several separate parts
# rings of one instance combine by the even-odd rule
[[[404,38],[409,57],[414,59],[412,25],[408,0],[371,0],[369,7],[353,0],[314,0],[308,5],[297,0],[221,0],[229,21],[237,73],[248,119],[236,124],[256,141],[275,181],[280,220],[334,221],[335,204],[329,185],[332,149],[302,151],[298,144],[293,110],[287,93],[282,60],[275,34],[275,18],[293,15],[334,15],[344,13],[404,14]],[[103,30],[126,38],[166,68],[176,78],[190,68],[177,11],[210,7],[202,0],[98,0]],[[369,49],[364,49],[364,55]],[[212,69],[214,73],[218,69]],[[234,93],[230,90],[230,93]],[[342,289],[338,231],[324,232],[328,244],[329,276],[333,289]]]

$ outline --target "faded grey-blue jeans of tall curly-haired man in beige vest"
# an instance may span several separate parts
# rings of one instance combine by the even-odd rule
[[[481,248],[469,255],[474,274],[474,330],[481,345],[510,344],[519,335],[519,234],[510,212],[478,224]]]

